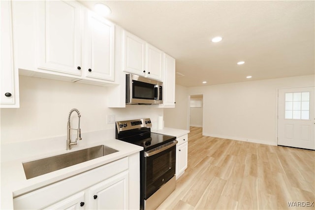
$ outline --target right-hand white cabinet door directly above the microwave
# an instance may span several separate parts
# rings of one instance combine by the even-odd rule
[[[146,44],[146,73],[147,77],[163,80],[163,52],[158,48]]]

